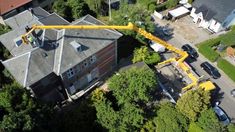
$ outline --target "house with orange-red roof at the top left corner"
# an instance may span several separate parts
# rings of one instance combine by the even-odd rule
[[[0,0],[0,23],[30,7],[50,8],[54,0]]]

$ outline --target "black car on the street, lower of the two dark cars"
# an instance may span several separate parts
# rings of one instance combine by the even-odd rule
[[[203,62],[201,68],[204,69],[214,79],[220,78],[219,71],[208,62]]]

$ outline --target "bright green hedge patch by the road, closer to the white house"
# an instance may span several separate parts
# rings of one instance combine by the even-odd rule
[[[213,46],[219,45],[220,39],[209,39],[198,44],[198,51],[203,54],[211,62],[215,62],[219,57],[219,53],[212,49]]]

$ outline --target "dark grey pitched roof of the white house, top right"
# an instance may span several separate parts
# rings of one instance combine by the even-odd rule
[[[192,5],[196,7],[196,12],[203,13],[206,20],[213,18],[219,22],[223,22],[235,9],[234,0],[195,0]]]

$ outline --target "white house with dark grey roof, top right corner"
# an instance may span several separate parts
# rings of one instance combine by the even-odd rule
[[[235,24],[234,0],[195,0],[192,6],[193,22],[213,33]]]

